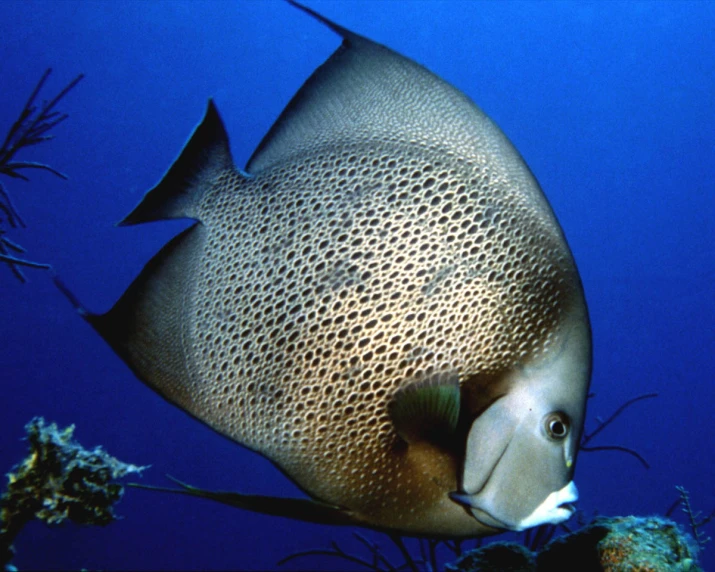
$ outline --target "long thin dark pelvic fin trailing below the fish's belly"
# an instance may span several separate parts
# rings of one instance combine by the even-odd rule
[[[244,495],[227,491],[207,491],[182,483],[172,477],[169,478],[181,488],[153,487],[139,483],[131,483],[130,486],[139,489],[210,499],[235,508],[250,510],[260,514],[312,522],[314,524],[329,524],[333,526],[360,526],[362,524],[364,526],[364,523],[360,523],[357,519],[353,518],[347,510],[318,500]]]

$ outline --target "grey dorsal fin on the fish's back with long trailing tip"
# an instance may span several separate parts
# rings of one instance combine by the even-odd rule
[[[258,173],[320,144],[398,140],[462,157],[488,147],[520,160],[501,131],[458,89],[421,65],[289,0],[343,38],[296,93],[251,157]]]

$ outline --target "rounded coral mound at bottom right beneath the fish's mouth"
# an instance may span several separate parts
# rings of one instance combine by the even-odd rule
[[[598,518],[534,554],[516,543],[472,550],[446,566],[455,572],[702,572],[697,546],[660,517]]]

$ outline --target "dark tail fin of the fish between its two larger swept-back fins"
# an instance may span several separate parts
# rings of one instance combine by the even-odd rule
[[[216,175],[233,169],[228,135],[216,105],[209,99],[206,113],[158,185],[120,226],[169,218],[198,219],[197,204]]]

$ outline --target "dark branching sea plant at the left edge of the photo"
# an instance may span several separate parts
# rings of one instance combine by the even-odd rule
[[[40,81],[37,82],[35,89],[33,89],[22,111],[20,111],[20,115],[5,136],[5,140],[0,147],[0,175],[11,179],[29,181],[25,171],[39,169],[48,171],[61,179],[67,179],[67,175],[45,163],[16,159],[16,155],[22,149],[53,139],[54,134],[51,131],[69,117],[68,114],[57,111],[55,108],[70,90],[80,82],[84,75],[78,75],[49,101],[43,101],[41,104],[37,103],[37,97],[51,72],[52,69],[48,68],[42,74]],[[50,267],[49,264],[23,258],[22,255],[25,253],[25,249],[7,236],[7,227],[16,229],[25,228],[25,226],[25,221],[20,216],[2,180],[0,180],[0,262],[6,263],[15,277],[21,282],[26,280],[21,267],[45,269]]]

